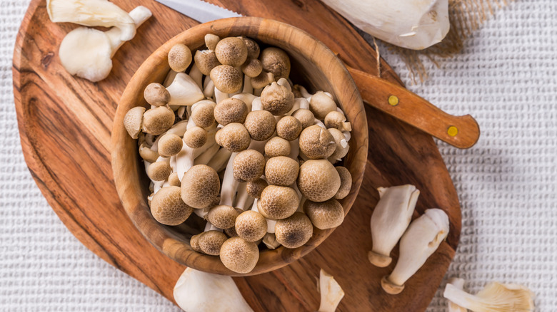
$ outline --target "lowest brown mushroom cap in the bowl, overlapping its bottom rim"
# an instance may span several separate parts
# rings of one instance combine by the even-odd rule
[[[232,237],[222,244],[220,257],[227,269],[246,274],[255,268],[259,260],[259,249],[252,241]]]

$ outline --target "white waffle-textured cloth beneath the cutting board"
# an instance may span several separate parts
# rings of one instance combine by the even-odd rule
[[[0,0],[0,311],[177,311],[82,246],[29,175],[11,87],[28,1]],[[556,311],[557,1],[497,10],[459,56],[441,68],[426,63],[430,78],[421,85],[381,52],[411,90],[481,125],[470,150],[439,144],[463,214],[447,277],[466,279],[474,292],[489,281],[525,284],[536,311]],[[446,311],[441,290],[428,311]]]

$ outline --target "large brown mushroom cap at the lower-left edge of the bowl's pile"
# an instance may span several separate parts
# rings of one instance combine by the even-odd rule
[[[182,224],[191,212],[194,208],[182,201],[179,187],[163,187],[151,199],[151,214],[162,224]]]

